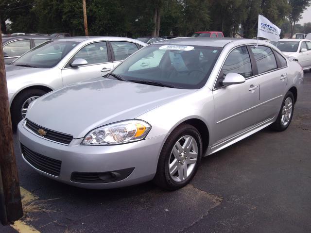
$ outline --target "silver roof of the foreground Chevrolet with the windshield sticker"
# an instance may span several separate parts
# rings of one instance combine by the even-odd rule
[[[233,41],[241,41],[241,44],[243,44],[243,41],[245,41],[245,44],[250,43],[250,41],[257,43],[257,40],[239,39],[239,38],[179,37],[157,41],[152,44],[225,47],[226,44],[229,44],[230,42]]]

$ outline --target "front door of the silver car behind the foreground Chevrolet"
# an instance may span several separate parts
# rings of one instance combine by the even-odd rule
[[[87,65],[71,67],[70,64],[78,58],[85,59]],[[112,68],[113,63],[109,56],[106,41],[93,42],[84,46],[70,58],[66,66],[62,69],[63,83],[64,85],[68,85],[70,83],[100,77]]]

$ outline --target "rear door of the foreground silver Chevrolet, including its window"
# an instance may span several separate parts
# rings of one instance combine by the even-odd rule
[[[287,82],[287,63],[281,54],[274,53],[270,47],[253,46],[251,50],[259,73],[258,121],[263,122],[276,116],[280,110]]]

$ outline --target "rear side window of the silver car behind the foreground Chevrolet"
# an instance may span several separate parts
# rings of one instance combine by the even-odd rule
[[[111,41],[112,50],[116,61],[123,61],[138,50],[134,43],[127,41]]]

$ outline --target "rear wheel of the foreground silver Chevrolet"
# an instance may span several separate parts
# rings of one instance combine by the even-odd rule
[[[271,125],[276,131],[286,130],[294,114],[294,95],[291,91],[287,92],[282,102],[281,110],[278,113],[276,121]]]

